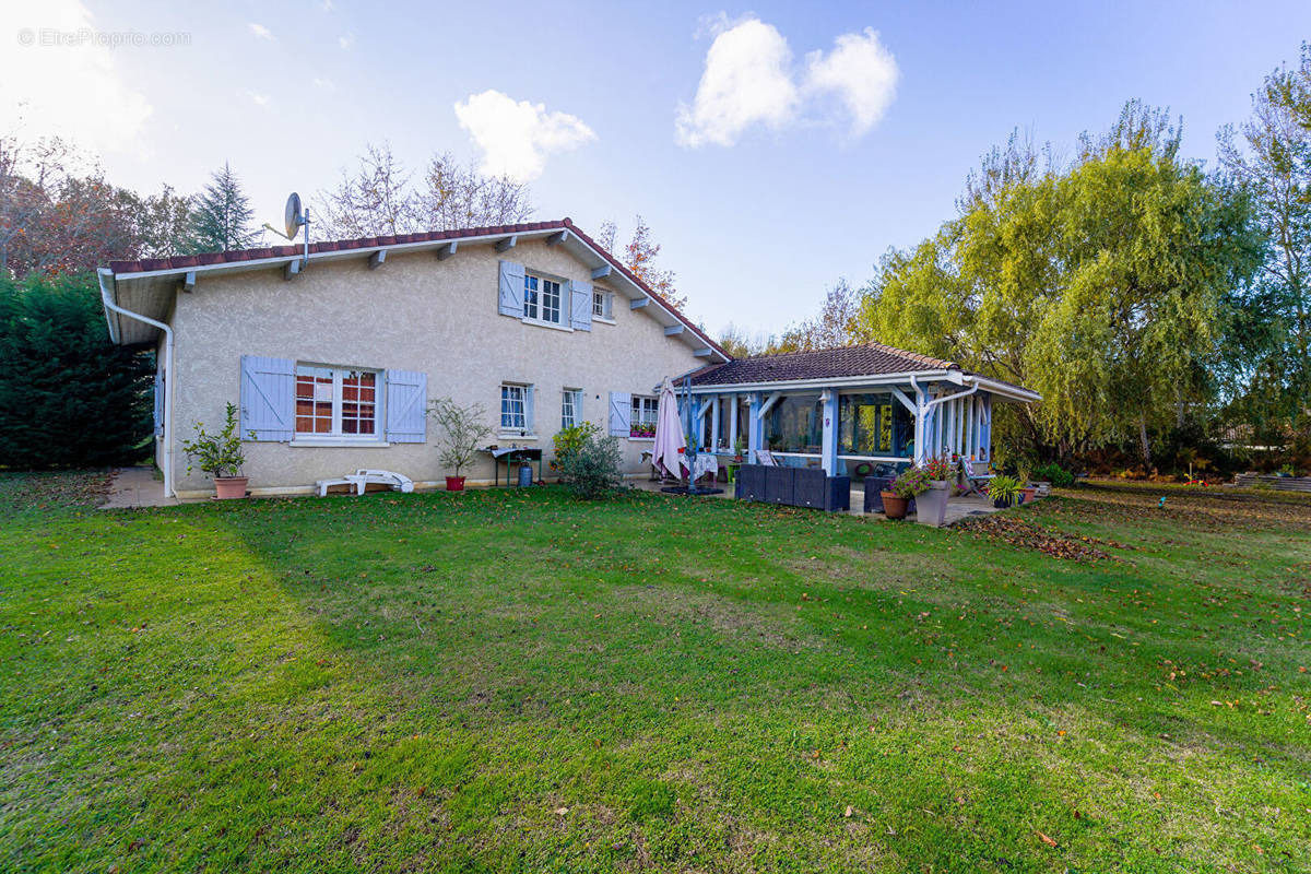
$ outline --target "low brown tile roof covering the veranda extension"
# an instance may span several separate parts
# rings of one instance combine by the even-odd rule
[[[882,343],[737,358],[726,364],[703,367],[692,373],[692,385],[741,385],[791,380],[882,376],[909,371],[958,370],[954,362],[907,352]]]

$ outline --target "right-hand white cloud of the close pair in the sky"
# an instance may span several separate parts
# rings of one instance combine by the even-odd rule
[[[847,33],[834,41],[827,55],[806,55],[806,90],[835,92],[851,113],[852,134],[873,127],[897,90],[897,60],[878,42],[878,31]]]

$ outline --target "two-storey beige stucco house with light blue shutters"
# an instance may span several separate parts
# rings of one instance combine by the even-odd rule
[[[382,468],[448,470],[427,408],[481,404],[489,443],[541,448],[582,421],[652,446],[656,387],[729,355],[569,219],[115,261],[110,338],[157,351],[156,460],[166,494],[211,494],[180,444],[240,409],[254,494]],[[465,472],[493,480],[490,455]]]

